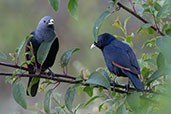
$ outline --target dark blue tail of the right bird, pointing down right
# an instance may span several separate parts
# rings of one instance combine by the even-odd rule
[[[128,78],[131,80],[131,82],[133,83],[134,87],[137,90],[143,91],[144,90],[144,86],[141,82],[141,80],[138,78],[137,74],[133,74],[129,71],[123,70],[124,74],[126,74],[128,76]]]

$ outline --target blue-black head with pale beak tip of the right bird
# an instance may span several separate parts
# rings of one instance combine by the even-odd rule
[[[111,41],[113,41],[115,37],[109,33],[104,33],[98,36],[97,42],[94,42],[91,45],[91,49],[94,47],[98,47],[100,49],[103,49],[105,46],[110,44]]]

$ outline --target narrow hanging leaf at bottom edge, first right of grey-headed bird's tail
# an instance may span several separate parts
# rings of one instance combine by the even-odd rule
[[[44,97],[44,111],[46,112],[46,114],[50,114],[50,101],[51,101],[52,91],[53,89],[49,89]]]

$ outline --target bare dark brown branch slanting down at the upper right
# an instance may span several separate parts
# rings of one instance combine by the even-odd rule
[[[113,0],[115,1],[115,0]],[[130,14],[134,15],[136,18],[138,18],[139,20],[141,20],[143,23],[149,23],[147,20],[145,20],[144,18],[142,18],[140,15],[138,15],[137,13],[135,13],[134,11],[132,11],[131,9],[129,9],[128,7],[124,6],[123,4],[121,4],[120,2],[117,3],[117,5],[121,8],[123,8],[124,10],[126,10],[127,12],[129,12]],[[164,33],[161,32],[160,30],[157,30],[156,27],[151,26],[151,28],[158,32],[161,36],[164,36]]]

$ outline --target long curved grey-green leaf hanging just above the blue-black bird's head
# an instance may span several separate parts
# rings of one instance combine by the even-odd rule
[[[106,10],[104,11],[97,19],[93,27],[93,35],[94,35],[94,40],[97,40],[97,35],[99,33],[100,26],[102,22],[111,15],[111,12]]]

